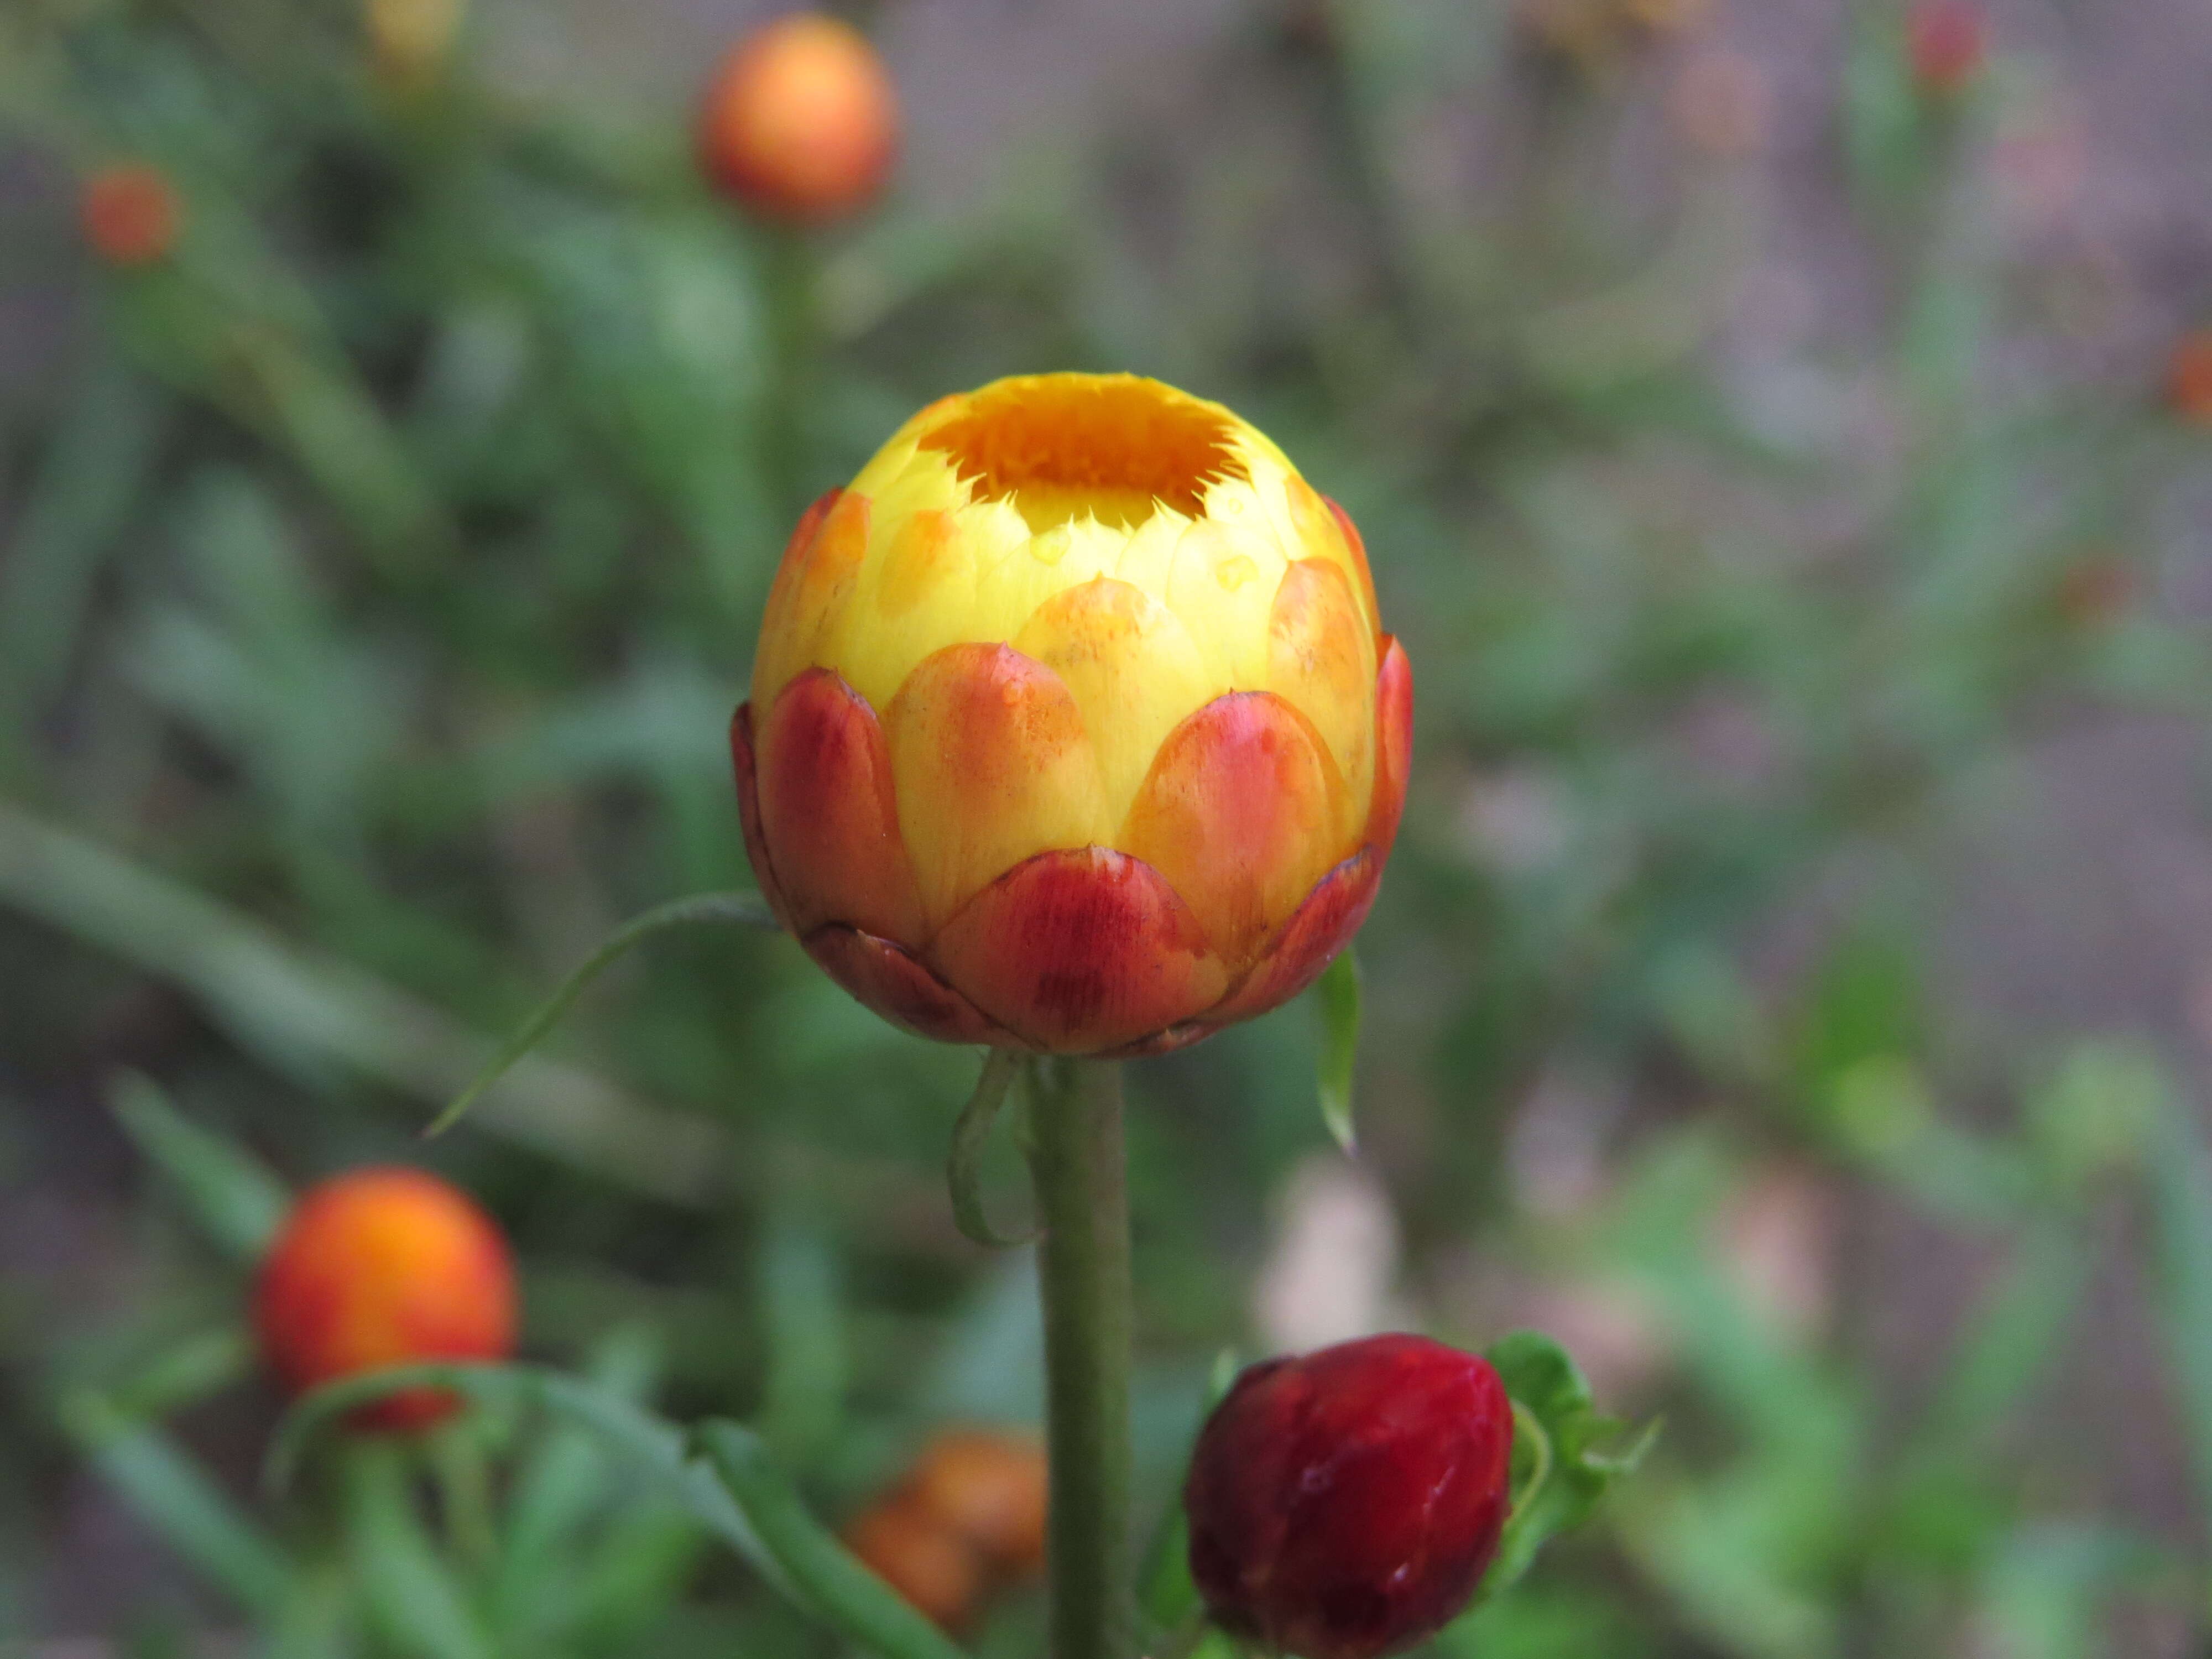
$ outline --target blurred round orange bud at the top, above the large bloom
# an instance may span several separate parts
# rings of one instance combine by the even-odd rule
[[[796,223],[865,208],[898,155],[898,100],[876,49],[801,11],[723,58],[699,117],[699,159],[754,212]]]

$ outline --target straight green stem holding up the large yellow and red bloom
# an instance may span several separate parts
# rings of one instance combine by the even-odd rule
[[[1119,1062],[1031,1062],[1029,1141],[1044,1223],[1053,1659],[1133,1659],[1128,1179]]]

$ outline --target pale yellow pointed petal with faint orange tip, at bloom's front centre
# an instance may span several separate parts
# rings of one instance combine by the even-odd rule
[[[1119,823],[1168,732],[1212,695],[1183,624],[1141,588],[1102,575],[1037,606],[1013,648],[1060,675],[1075,697],[1106,816]]]

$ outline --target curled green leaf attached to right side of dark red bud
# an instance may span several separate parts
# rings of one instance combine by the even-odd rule
[[[1484,1358],[1513,1398],[1515,1467],[1526,1475],[1513,1493],[1498,1557],[1475,1593],[1473,1606],[1509,1588],[1546,1540],[1579,1526],[1617,1478],[1630,1473],[1650,1451],[1659,1425],[1648,1425],[1615,1451],[1626,1425],[1599,1416],[1582,1369],[1542,1332],[1513,1332],[1491,1343]],[[1526,1451],[1524,1451],[1526,1447]]]

